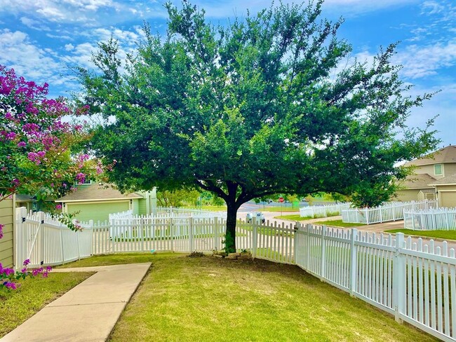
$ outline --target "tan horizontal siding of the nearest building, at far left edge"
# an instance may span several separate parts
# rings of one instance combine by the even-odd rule
[[[4,237],[0,240],[0,263],[4,267],[13,266],[14,255],[14,199],[0,202],[0,224],[4,225]]]

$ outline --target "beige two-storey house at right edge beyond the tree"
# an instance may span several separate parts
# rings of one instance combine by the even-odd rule
[[[441,207],[456,206],[456,146],[445,146],[404,166],[414,167],[414,175],[404,179],[394,200],[438,199]]]

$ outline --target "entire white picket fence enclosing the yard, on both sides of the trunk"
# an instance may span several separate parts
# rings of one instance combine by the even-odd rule
[[[83,231],[67,229],[66,234],[55,222],[46,222],[43,214],[19,215],[18,221],[22,218],[16,240],[22,246],[19,260],[29,255],[32,266],[90,254],[210,252],[223,247],[226,225],[219,217],[137,217],[128,224],[122,219],[111,224],[90,221]],[[401,233],[394,237],[299,223],[239,221],[236,247],[250,250],[255,258],[296,264],[398,321],[443,341],[456,341],[456,258],[455,249],[448,249],[446,242],[437,246],[432,240],[428,244],[405,240]]]

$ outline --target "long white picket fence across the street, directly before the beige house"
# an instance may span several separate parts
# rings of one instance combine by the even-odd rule
[[[404,218],[404,211],[429,210],[438,207],[437,200],[388,202],[380,207],[342,210],[342,221],[357,224],[378,224]]]

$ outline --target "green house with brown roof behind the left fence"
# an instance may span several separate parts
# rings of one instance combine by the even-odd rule
[[[105,221],[109,214],[133,210],[133,214],[150,214],[156,208],[156,191],[121,193],[109,184],[80,184],[77,190],[55,200],[62,212],[76,212],[79,221]]]

